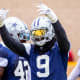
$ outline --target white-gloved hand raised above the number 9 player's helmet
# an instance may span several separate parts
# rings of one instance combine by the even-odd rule
[[[45,4],[41,3],[40,5],[37,6],[37,8],[40,14],[47,16],[53,23],[55,23],[58,20],[56,14]]]

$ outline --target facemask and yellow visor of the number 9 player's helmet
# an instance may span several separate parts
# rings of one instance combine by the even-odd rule
[[[39,44],[40,46],[44,45],[45,35],[47,33],[46,29],[36,29],[31,31],[31,39],[35,44]]]

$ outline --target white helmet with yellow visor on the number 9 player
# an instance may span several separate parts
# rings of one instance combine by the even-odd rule
[[[43,46],[55,36],[54,28],[49,18],[39,16],[31,25],[31,39],[34,44]]]

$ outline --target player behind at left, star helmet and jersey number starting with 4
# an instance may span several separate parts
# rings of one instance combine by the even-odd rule
[[[10,34],[18,42],[29,40],[29,31],[20,19],[8,17],[4,24]],[[1,42],[1,44],[3,44]],[[0,80],[31,80],[28,58],[20,57],[0,44]]]

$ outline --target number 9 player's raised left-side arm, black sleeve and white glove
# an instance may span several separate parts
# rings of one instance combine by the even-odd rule
[[[8,10],[5,10],[5,9],[0,10],[1,37],[8,48],[10,48],[12,51],[14,51],[16,54],[19,54],[20,56],[24,56],[24,55],[26,56],[27,54],[25,54],[26,50],[24,45],[14,40],[8,33],[7,29],[5,28],[4,20],[6,19],[7,14],[8,14]]]

